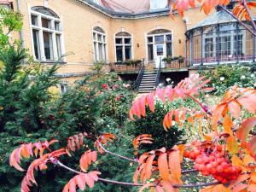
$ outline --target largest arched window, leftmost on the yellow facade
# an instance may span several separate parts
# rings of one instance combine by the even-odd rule
[[[31,9],[32,44],[38,61],[57,61],[63,55],[61,20],[44,7]]]

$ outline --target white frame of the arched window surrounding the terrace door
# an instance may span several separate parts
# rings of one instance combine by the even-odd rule
[[[147,37],[146,37],[146,41],[147,41],[147,57],[148,57],[148,44],[153,44],[153,61],[155,61],[155,53],[156,53],[156,51],[155,51],[155,45],[157,44],[157,43],[155,43],[155,36],[161,36],[161,35],[163,35],[164,36],[164,42],[162,43],[162,44],[164,44],[164,53],[166,53],[167,54],[167,43],[172,43],[172,56],[173,56],[173,35],[172,35],[172,32],[162,32],[162,33],[156,33],[156,34],[147,34]],[[171,41],[168,41],[167,42],[167,40],[166,40],[166,35],[171,35],[172,36],[172,40]],[[150,38],[150,37],[152,37],[153,38],[153,42],[151,42],[151,43],[148,43],[148,38]],[[164,57],[166,57],[167,55],[164,55]],[[148,59],[148,61],[150,62],[150,61],[152,61],[152,60],[149,60],[149,58],[147,58]]]

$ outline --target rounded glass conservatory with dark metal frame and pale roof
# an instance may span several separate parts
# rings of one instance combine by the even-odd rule
[[[202,20],[185,35],[186,59],[191,67],[255,61],[255,37],[223,10]]]

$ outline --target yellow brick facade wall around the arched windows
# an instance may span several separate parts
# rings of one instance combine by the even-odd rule
[[[172,54],[184,56],[184,32],[189,26],[195,25],[197,21],[206,17],[198,8],[189,10],[184,18],[176,15],[175,20],[172,20],[169,15],[141,19],[115,19],[76,0],[22,0],[20,1],[20,13],[24,15],[23,41],[31,55],[33,52],[30,9],[34,6],[46,6],[61,18],[65,52],[74,53],[74,55],[66,57],[67,63],[63,64],[59,73],[85,73],[91,70],[94,26],[100,26],[106,32],[108,61],[114,62],[114,35],[122,30],[131,34],[133,59],[147,58],[146,37],[148,32],[154,29],[170,30],[172,32]],[[18,9],[16,3],[15,9]],[[193,20],[190,20],[192,17]],[[184,19],[188,20],[188,26]]]

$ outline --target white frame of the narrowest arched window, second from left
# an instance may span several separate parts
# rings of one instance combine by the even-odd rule
[[[98,26],[99,27],[99,26]],[[102,28],[102,27],[100,27]],[[94,34],[95,34],[95,37],[94,38]],[[98,35],[101,36],[101,38],[103,38],[105,41],[101,40],[99,41],[98,40]],[[107,35],[105,32],[98,32],[96,30],[92,30],[92,42],[93,42],[93,60],[94,61],[101,61],[100,60],[100,56],[99,56],[99,44],[102,44],[103,45],[103,48],[102,49],[102,61],[104,62],[107,62],[108,61],[108,53],[107,53]],[[96,47],[94,46],[94,44],[96,44]]]

